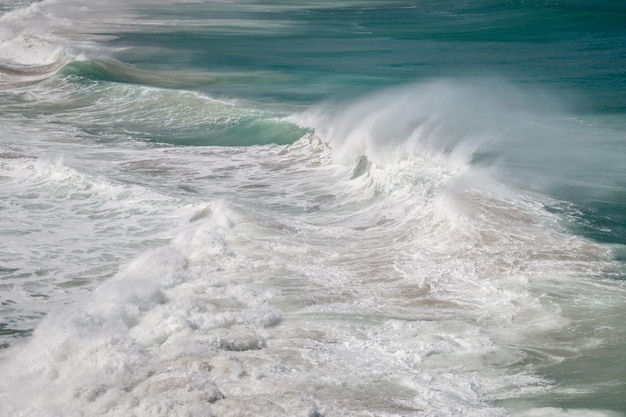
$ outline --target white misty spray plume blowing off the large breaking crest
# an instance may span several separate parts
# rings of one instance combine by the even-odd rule
[[[439,80],[322,105],[293,120],[314,128],[339,160],[366,155],[390,163],[434,151],[457,154],[450,161],[466,163],[492,135],[503,133],[497,129],[508,123],[506,115],[521,109],[525,100],[521,92],[497,80]]]

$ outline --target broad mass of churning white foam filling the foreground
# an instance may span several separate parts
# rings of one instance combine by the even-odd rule
[[[3,351],[2,413],[504,416],[498,401],[558,392],[538,367],[619,329],[611,252],[568,233],[548,197],[473,168],[462,135],[354,110],[381,107],[347,106],[292,145],[118,149],[107,175],[162,172],[149,205],[177,231]],[[36,164],[76,196],[119,189]],[[125,196],[120,227],[151,218]],[[576,415],[551,410],[519,415]]]

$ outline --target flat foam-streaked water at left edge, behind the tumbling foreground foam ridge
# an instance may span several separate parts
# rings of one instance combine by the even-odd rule
[[[163,244],[199,209],[81,173],[62,159],[18,154],[0,160],[0,168],[6,193],[0,262],[14,270],[2,294],[21,306],[18,326],[34,325],[41,312],[93,289],[137,251]]]

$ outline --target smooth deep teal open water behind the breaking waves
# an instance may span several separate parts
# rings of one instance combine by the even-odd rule
[[[605,3],[165,5],[146,14],[209,23],[114,32],[112,45],[130,47],[120,59],[143,67],[234,74],[234,85],[202,87],[264,101],[314,103],[432,77],[502,76],[621,111],[625,12]],[[255,73],[257,83],[236,78]]]

